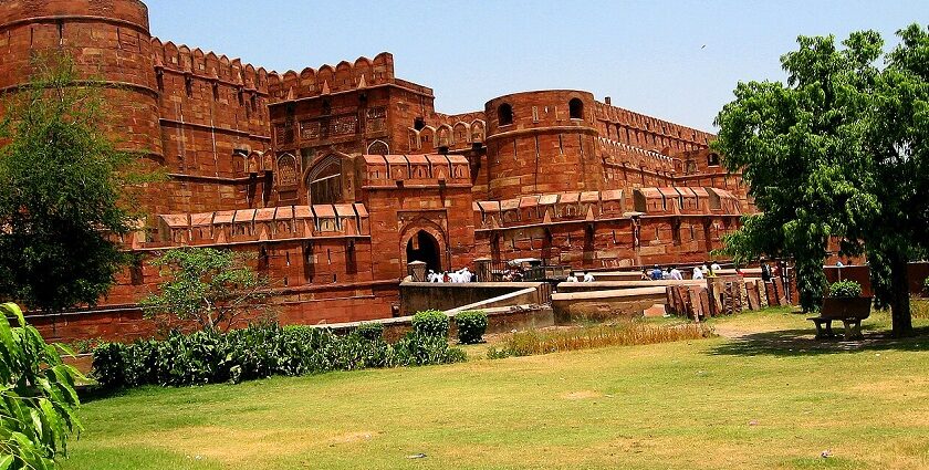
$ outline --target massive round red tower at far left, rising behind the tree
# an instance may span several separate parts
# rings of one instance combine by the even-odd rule
[[[102,81],[108,130],[122,149],[161,156],[148,8],[138,0],[0,1],[0,93],[29,83],[33,58],[65,52]]]

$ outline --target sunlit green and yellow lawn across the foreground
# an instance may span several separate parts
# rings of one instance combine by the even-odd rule
[[[859,344],[817,343],[772,310],[710,340],[139,389],[84,405],[64,468],[929,468],[917,324],[891,341],[876,314]]]

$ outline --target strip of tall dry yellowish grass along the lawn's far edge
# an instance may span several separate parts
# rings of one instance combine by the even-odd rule
[[[530,330],[513,333],[499,348],[497,346],[491,347],[488,351],[488,357],[531,356],[605,346],[669,343],[711,336],[714,336],[712,328],[702,323],[654,325],[633,321],[567,330]]]

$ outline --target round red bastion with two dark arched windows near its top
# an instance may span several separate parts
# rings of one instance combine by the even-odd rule
[[[484,112],[490,199],[602,189],[594,109],[593,94],[573,90],[489,101]]]

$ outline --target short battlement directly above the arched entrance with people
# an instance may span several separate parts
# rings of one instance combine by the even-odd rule
[[[365,155],[364,187],[471,186],[468,159],[460,155]]]

